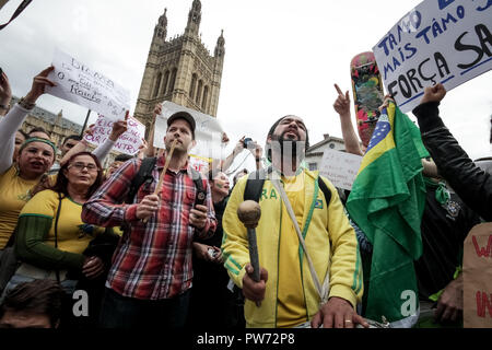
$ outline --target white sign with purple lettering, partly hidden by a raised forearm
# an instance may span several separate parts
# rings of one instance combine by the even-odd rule
[[[94,132],[92,135],[85,135],[84,140],[95,145],[104,143],[112,133],[113,124],[115,121],[99,115],[94,125]],[[142,139],[145,137],[145,126],[133,117],[127,119],[127,131],[116,140],[113,150],[133,155],[139,151]]]

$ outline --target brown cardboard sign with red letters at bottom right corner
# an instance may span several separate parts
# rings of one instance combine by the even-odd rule
[[[492,328],[492,223],[476,225],[464,245],[464,327]]]

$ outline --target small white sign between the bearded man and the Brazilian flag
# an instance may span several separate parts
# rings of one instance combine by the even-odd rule
[[[358,176],[362,156],[340,151],[325,151],[319,174],[327,177],[335,187],[352,189]]]

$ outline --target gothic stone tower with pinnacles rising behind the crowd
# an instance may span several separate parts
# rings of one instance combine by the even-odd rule
[[[171,101],[216,116],[225,40],[223,31],[214,55],[201,43],[201,2],[194,0],[183,35],[167,39],[167,9],[159,18],[140,85],[134,117],[149,130],[155,104]]]

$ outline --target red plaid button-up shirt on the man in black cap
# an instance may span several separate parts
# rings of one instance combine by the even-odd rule
[[[83,206],[82,220],[99,226],[128,224],[113,256],[106,287],[129,298],[143,300],[169,299],[191,287],[194,234],[204,238],[216,228],[210,186],[207,188],[208,219],[203,230],[189,225],[189,212],[195,206],[197,188],[191,171],[167,171],[162,185],[156,214],[143,223],[136,215],[143,197],[154,191],[164,167],[164,156],[157,160],[154,180],[140,187],[132,205],[121,203],[137,175],[141,161],[125,163]]]

